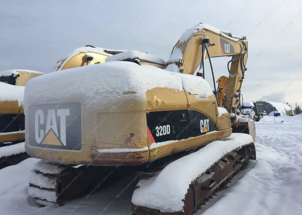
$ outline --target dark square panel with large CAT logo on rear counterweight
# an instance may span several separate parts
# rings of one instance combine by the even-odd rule
[[[29,144],[81,150],[81,113],[80,103],[31,105],[28,120]]]

